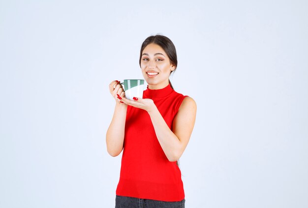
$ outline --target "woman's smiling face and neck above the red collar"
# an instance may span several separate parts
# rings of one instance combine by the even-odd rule
[[[141,56],[141,70],[149,89],[162,89],[169,84],[169,75],[175,69],[166,52],[157,44],[145,47]]]

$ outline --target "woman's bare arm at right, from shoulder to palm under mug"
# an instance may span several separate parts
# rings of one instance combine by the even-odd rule
[[[131,101],[123,98],[124,103],[146,110],[152,120],[158,142],[169,161],[177,161],[183,154],[192,133],[196,118],[196,103],[185,97],[173,121],[173,131],[159,113],[153,100],[138,98]]]

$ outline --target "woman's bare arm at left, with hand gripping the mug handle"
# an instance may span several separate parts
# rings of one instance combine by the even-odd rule
[[[117,94],[124,96],[123,88],[118,82],[113,81],[110,83],[109,90],[116,100],[116,107],[106,133],[106,144],[108,153],[115,157],[118,156],[123,149],[127,105],[121,103],[120,99],[117,98]]]

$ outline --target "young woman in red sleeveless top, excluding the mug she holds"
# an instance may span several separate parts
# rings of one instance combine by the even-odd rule
[[[169,81],[178,64],[169,38],[148,37],[139,64],[148,83],[142,98],[126,99],[119,81],[109,85],[116,106],[106,134],[107,150],[117,156],[123,149],[116,208],[184,208],[177,161],[195,123],[196,103],[177,93]]]

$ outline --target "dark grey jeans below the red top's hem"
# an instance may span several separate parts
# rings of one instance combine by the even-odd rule
[[[185,199],[180,202],[164,202],[117,196],[116,208],[185,208]]]

